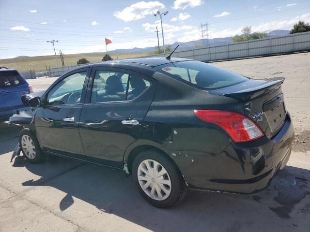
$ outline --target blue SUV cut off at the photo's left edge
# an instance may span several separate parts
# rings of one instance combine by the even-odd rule
[[[7,121],[16,110],[28,110],[20,99],[32,93],[32,87],[14,69],[0,69],[0,122]]]

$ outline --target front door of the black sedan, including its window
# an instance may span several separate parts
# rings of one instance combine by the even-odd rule
[[[42,97],[34,116],[39,144],[50,153],[85,156],[78,121],[91,69],[80,69],[57,80]]]

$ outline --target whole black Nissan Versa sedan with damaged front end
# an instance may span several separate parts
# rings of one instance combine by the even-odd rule
[[[290,157],[283,81],[170,57],[81,66],[22,97],[32,108],[10,118],[24,125],[14,154],[123,170],[160,208],[180,202],[188,188],[252,193]]]

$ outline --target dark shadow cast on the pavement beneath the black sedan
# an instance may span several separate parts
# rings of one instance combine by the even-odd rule
[[[240,220],[256,221],[264,210],[272,211],[274,217],[265,220],[290,219],[296,204],[310,194],[309,170],[286,166],[271,185],[259,193],[243,195],[189,191],[182,203],[169,209],[157,209],[140,197],[132,178],[125,178],[123,173],[112,169],[74,161],[69,169],[50,176],[50,169],[64,162],[72,164],[72,160],[51,157],[37,165],[20,156],[16,157],[12,166],[25,167],[29,172],[41,176],[38,180],[23,182],[23,186],[48,186],[65,192],[65,197],[59,202],[61,211],[71,207],[75,197],[92,204],[101,212],[114,214],[155,232],[183,232],[192,231],[193,228],[195,231],[205,231],[212,225],[216,225],[218,231],[235,231],[243,223]],[[309,203],[302,208],[305,211],[301,214],[310,214]],[[210,218],[218,218],[218,221],[212,222]],[[223,218],[235,218],[240,223],[227,228],[221,222]]]

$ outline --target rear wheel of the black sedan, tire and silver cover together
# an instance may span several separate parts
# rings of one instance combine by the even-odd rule
[[[148,169],[152,172],[149,173]],[[169,208],[181,202],[186,195],[187,185],[176,164],[155,150],[145,150],[137,155],[132,174],[142,197],[157,208]]]

